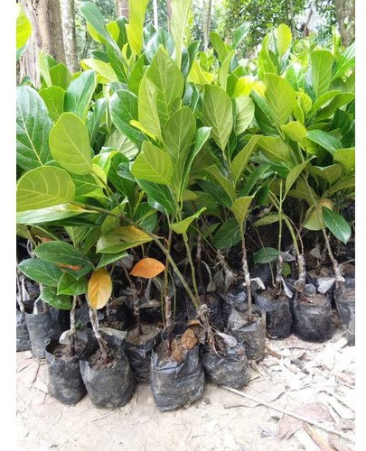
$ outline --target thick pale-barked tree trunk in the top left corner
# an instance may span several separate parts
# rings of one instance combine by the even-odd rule
[[[40,50],[51,55],[55,60],[65,62],[61,13],[59,0],[22,0],[25,14],[28,15],[33,32],[26,51],[20,60],[22,79],[26,75],[32,78],[33,84],[39,87],[40,69],[38,53]]]

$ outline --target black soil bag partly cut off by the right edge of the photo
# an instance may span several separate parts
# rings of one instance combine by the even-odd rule
[[[342,290],[334,290],[335,306],[338,310],[338,315],[342,326],[346,332],[348,344],[355,345],[355,290],[354,279],[346,279],[346,288],[343,293]]]

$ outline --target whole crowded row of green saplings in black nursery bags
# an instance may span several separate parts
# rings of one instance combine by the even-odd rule
[[[266,334],[339,321],[354,345],[354,44],[281,24],[238,60],[243,23],[201,51],[191,3],[165,32],[147,0],[107,24],[84,2],[99,50],[74,74],[41,51],[41,87],[17,87],[17,350],[66,404],[241,388]]]

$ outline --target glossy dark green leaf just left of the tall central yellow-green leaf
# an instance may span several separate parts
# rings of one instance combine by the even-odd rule
[[[147,95],[147,94],[146,94]],[[145,140],[143,133],[130,125],[138,119],[137,97],[125,89],[118,89],[109,100],[109,111],[113,124],[138,147]]]

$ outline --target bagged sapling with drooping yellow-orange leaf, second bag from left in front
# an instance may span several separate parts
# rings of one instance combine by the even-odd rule
[[[95,340],[80,356],[80,373],[91,402],[98,408],[127,404],[135,390],[135,378],[123,350],[123,342],[99,328],[97,310],[104,308],[112,294],[112,280],[105,268],[91,272],[87,299]]]

